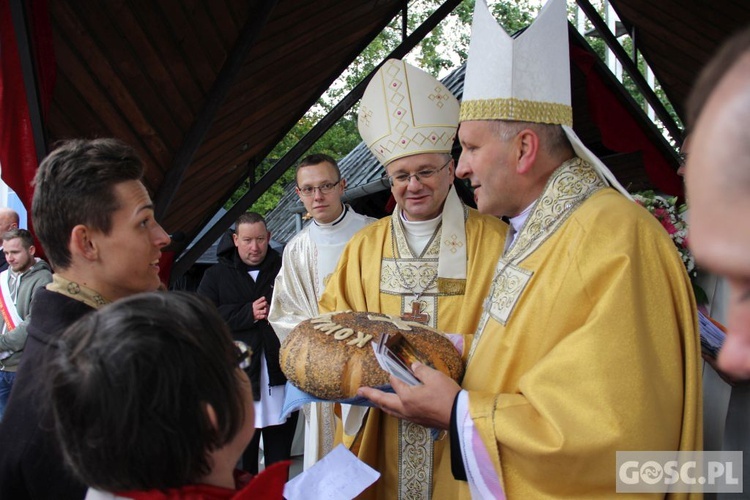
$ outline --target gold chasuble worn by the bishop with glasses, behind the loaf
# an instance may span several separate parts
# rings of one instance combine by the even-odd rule
[[[463,334],[468,346],[507,225],[463,205],[460,210],[465,239],[450,234],[443,225],[421,255],[411,253],[400,225],[393,220],[400,216],[398,207],[393,216],[360,231],[347,245],[326,286],[321,313],[353,310],[399,316],[412,312],[416,292],[419,311],[427,316],[429,326]],[[451,245],[465,245],[465,280],[437,279],[440,248]],[[343,441],[382,474],[360,498],[447,498],[433,489],[434,470],[447,443],[433,441],[429,429],[370,409],[359,432],[344,433]]]

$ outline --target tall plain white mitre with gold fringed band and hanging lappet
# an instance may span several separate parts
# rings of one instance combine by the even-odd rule
[[[614,174],[573,131],[565,0],[549,0],[513,39],[477,0],[460,121],[516,120],[562,125],[576,155],[630,198]]]

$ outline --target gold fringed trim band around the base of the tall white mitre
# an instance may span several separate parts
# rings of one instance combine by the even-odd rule
[[[458,121],[514,120],[573,126],[573,108],[553,102],[523,99],[478,99],[461,103]]]

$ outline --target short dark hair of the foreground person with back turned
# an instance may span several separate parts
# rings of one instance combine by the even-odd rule
[[[236,352],[215,307],[184,292],[135,295],[82,318],[47,378],[66,462],[111,492],[196,482],[245,420]]]

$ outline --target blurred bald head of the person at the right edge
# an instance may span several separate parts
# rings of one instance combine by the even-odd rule
[[[727,53],[733,58],[727,59]],[[728,69],[717,69],[713,62],[707,66],[690,100],[693,132],[685,175],[690,200],[689,239],[698,264],[724,276],[729,284],[729,335],[719,365],[734,376],[748,379],[750,29],[732,39],[717,59],[732,63]],[[712,75],[719,76],[712,79]],[[710,92],[706,92],[705,82],[713,82]]]

